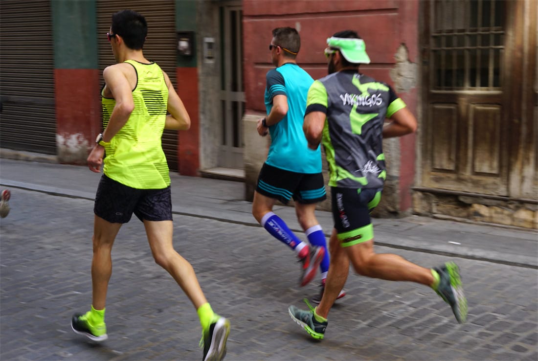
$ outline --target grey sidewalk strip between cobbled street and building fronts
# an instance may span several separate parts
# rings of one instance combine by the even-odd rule
[[[92,200],[101,175],[84,166],[0,159],[0,185]],[[173,212],[213,220],[257,225],[244,184],[171,174]],[[300,230],[292,207],[275,207],[293,230]],[[318,211],[329,235],[332,216]],[[376,243],[400,249],[538,268],[538,232],[409,216],[374,219]]]

